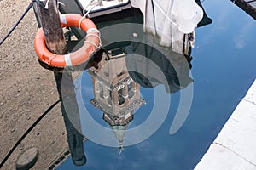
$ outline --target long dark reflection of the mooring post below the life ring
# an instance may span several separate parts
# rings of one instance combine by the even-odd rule
[[[62,78],[66,80],[66,83],[63,83],[63,86],[61,83]],[[79,133],[81,122],[79,117],[79,106],[73,88],[73,78],[71,74],[67,72],[64,74],[55,72],[55,80],[61,98],[61,112],[67,131],[67,142],[72,160],[74,165],[82,166],[86,163],[83,145],[84,136]],[[63,91],[62,88],[64,88]],[[66,107],[64,107],[63,101],[66,102]],[[70,109],[72,109],[72,111],[70,111]],[[67,116],[67,113],[70,112],[72,112],[73,116]]]

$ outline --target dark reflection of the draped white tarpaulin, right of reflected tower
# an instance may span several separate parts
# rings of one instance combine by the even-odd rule
[[[189,77],[192,67],[191,47],[187,46],[186,54],[177,54],[170,48],[157,46],[151,35],[146,35],[145,38],[149,44],[131,42],[131,46],[126,48],[126,66],[132,79],[144,88],[164,84],[167,93],[186,88],[193,81]],[[145,56],[145,59],[137,59],[136,55]],[[153,62],[148,62],[148,59]]]

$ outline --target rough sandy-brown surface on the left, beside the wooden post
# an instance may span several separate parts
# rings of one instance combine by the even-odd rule
[[[30,2],[0,0],[0,39]],[[34,52],[33,38],[37,30],[30,10],[0,46],[0,162],[32,123],[59,99],[53,72],[38,64]],[[16,169],[19,156],[32,147],[39,152],[32,169],[46,169],[68,149],[66,134],[59,104],[18,145],[1,170]]]

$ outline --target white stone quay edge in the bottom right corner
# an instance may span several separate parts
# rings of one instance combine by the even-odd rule
[[[196,170],[256,170],[256,80]]]

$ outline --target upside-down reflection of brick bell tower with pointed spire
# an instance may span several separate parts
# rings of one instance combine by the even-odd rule
[[[125,54],[119,49],[111,53],[117,54],[108,61],[102,59],[97,68],[88,71],[94,90],[94,99],[90,103],[102,110],[103,119],[122,143],[134,110],[143,105],[144,100],[140,96],[140,85],[128,74]]]

